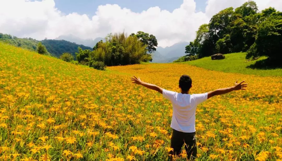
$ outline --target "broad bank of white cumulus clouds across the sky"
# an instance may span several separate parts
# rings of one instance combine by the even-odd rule
[[[208,0],[206,13],[196,12],[194,0],[184,0],[179,8],[169,12],[159,7],[135,13],[118,5],[98,6],[93,17],[86,14],[64,14],[54,0],[1,0],[0,32],[17,37],[42,40],[60,35],[75,35],[83,39],[105,37],[108,33],[144,31],[157,37],[160,46],[179,41],[192,41],[195,31],[210,17],[226,7],[239,7],[246,0]],[[259,9],[274,6],[282,10],[277,0],[256,0]]]

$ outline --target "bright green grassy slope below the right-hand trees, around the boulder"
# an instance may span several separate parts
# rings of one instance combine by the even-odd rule
[[[225,59],[223,60],[211,60],[210,57],[204,57],[195,61],[183,63],[222,72],[254,74],[259,76],[282,76],[281,68],[269,70],[247,68],[247,66],[254,64],[256,61],[266,59],[266,57],[261,57],[255,61],[246,61],[245,56],[246,53],[231,53],[226,54]]]

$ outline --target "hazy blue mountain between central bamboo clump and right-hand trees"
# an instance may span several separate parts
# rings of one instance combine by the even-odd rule
[[[172,46],[165,48],[158,47],[155,53],[152,53],[153,63],[170,63],[177,60],[179,57],[186,55],[185,47],[188,42],[178,42]]]

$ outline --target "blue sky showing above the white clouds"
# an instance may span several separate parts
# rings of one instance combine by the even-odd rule
[[[56,8],[65,14],[77,12],[93,16],[99,5],[117,4],[129,8],[133,12],[142,12],[150,7],[158,6],[161,10],[172,12],[183,3],[183,0],[55,0]],[[205,11],[206,0],[196,0],[196,10]]]

